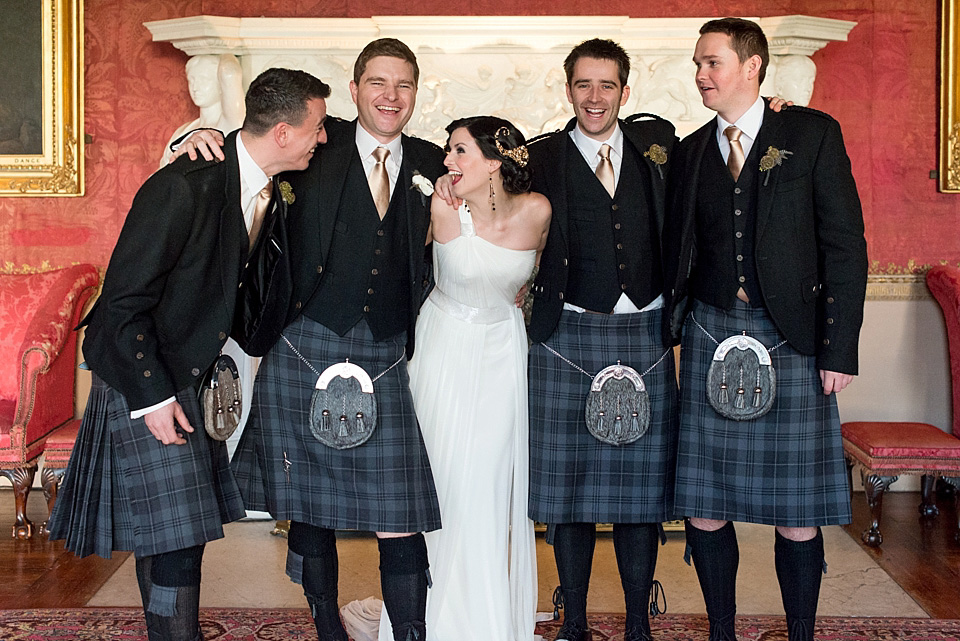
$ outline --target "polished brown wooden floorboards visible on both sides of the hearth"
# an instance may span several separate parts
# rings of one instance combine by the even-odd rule
[[[891,493],[884,497],[883,546],[863,546],[877,563],[932,617],[960,618],[960,546],[954,540],[957,514],[951,497],[938,498],[940,516],[920,519],[918,494]],[[862,493],[853,498],[854,522],[850,535],[860,540],[869,524]],[[43,493],[31,494],[28,516],[35,524],[46,518]],[[129,553],[113,559],[97,556],[77,559],[61,542],[42,537],[16,541],[9,535],[13,523],[13,492],[0,489],[0,608],[82,607]]]

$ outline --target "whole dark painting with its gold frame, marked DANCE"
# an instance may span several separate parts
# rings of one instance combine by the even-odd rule
[[[0,76],[0,196],[82,196],[83,0],[6,2],[0,59],[22,67]]]

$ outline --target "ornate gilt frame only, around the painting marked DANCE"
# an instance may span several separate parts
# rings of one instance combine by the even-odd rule
[[[43,7],[43,151],[0,155],[0,196],[82,196],[83,1],[38,1]]]

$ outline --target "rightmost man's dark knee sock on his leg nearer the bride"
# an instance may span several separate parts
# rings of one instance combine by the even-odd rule
[[[733,523],[707,532],[687,521],[687,545],[693,555],[700,590],[710,620],[710,641],[734,641],[737,614],[737,568],[740,548]]]

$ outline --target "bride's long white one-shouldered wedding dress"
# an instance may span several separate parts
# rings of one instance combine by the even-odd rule
[[[431,641],[531,641],[536,555],[527,518],[527,336],[517,291],[535,250],[476,235],[434,242],[436,287],[417,320],[410,388],[440,501],[427,533]],[[384,609],[380,641],[392,641]]]

